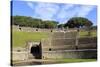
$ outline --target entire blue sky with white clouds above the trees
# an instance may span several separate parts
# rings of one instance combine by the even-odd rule
[[[31,16],[42,20],[53,20],[60,24],[72,17],[85,17],[97,25],[97,6],[33,1],[12,1],[12,15]]]

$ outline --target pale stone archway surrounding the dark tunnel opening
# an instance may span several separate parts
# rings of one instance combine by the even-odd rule
[[[27,42],[29,59],[42,59],[42,47],[40,42]]]

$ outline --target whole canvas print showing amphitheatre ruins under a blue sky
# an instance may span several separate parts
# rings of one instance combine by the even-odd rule
[[[98,60],[97,6],[12,1],[11,66]]]

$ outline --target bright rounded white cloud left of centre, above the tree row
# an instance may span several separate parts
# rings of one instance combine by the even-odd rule
[[[59,6],[50,3],[39,3],[36,5],[35,13],[42,19],[52,19],[59,10]]]

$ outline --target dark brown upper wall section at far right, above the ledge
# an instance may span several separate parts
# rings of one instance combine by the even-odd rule
[[[96,37],[79,38],[78,40],[78,49],[97,49]]]

